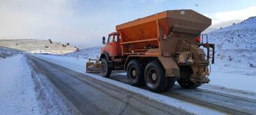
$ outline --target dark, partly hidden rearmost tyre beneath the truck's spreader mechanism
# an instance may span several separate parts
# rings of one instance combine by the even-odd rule
[[[191,70],[187,67],[180,68],[180,79],[177,81],[180,87],[185,89],[195,89],[201,86],[199,82],[192,82],[189,78],[191,77]]]

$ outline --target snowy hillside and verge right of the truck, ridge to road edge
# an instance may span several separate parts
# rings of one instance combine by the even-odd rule
[[[210,84],[256,92],[256,17],[212,31],[208,40],[216,47]]]

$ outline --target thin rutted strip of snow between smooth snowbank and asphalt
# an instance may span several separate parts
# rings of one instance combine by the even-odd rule
[[[36,72],[40,68],[34,66],[34,63],[30,59],[27,62],[31,66],[41,114],[80,114],[76,107],[58,91],[48,77]]]

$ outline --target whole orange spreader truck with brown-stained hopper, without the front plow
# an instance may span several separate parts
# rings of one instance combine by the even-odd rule
[[[132,86],[145,84],[150,91],[197,88],[208,83],[214,44],[202,43],[201,33],[211,19],[193,10],[168,10],[116,26],[102,38],[100,72],[125,70]],[[200,47],[207,49],[207,54]]]

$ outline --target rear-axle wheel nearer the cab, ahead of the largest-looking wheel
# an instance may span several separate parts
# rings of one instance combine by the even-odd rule
[[[127,80],[132,86],[143,84],[143,69],[138,60],[132,60],[127,66]]]

